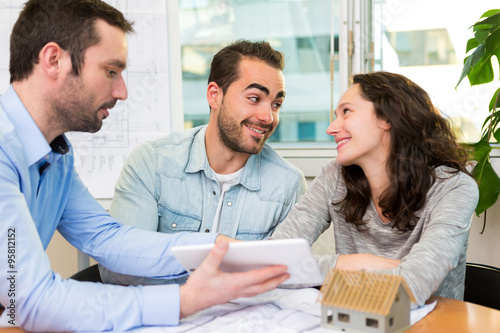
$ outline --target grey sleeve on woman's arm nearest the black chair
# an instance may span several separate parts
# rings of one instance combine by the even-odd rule
[[[441,189],[439,197],[428,198],[428,205],[432,205],[428,225],[401,264],[394,270],[382,271],[403,276],[419,305],[457,267],[468,244],[479,192],[471,177],[459,174],[456,178],[457,181],[449,182],[449,187]],[[463,288],[463,285],[447,287]]]

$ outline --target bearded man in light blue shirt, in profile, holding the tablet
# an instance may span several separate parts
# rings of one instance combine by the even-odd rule
[[[117,100],[132,26],[101,1],[31,0],[11,36],[7,92],[0,96],[0,303],[29,331],[125,331],[176,325],[179,317],[276,287],[275,266],[237,275],[218,269],[218,241],[186,284],[122,287],[63,280],[45,249],[54,231],[105,267],[125,274],[186,275],[174,245],[217,234],[167,235],[124,226],[92,198],[74,171],[67,131],[96,132]]]

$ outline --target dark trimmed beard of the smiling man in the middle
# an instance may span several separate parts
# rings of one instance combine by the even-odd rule
[[[247,139],[242,133],[242,128],[245,124],[266,129],[267,132],[263,138],[252,136],[250,139]],[[231,112],[226,109],[224,106],[224,100],[222,101],[221,108],[217,116],[217,127],[219,129],[219,136],[224,146],[232,151],[250,155],[260,153],[262,147],[264,147],[267,139],[271,136],[275,129],[273,124],[266,125],[262,123],[254,123],[248,119],[239,122],[231,115]]]

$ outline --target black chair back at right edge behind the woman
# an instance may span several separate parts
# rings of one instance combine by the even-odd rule
[[[464,301],[500,310],[500,269],[467,263]]]

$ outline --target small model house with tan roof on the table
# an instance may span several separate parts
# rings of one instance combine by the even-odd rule
[[[413,295],[401,276],[331,270],[321,288],[321,326],[389,333],[410,328]]]

